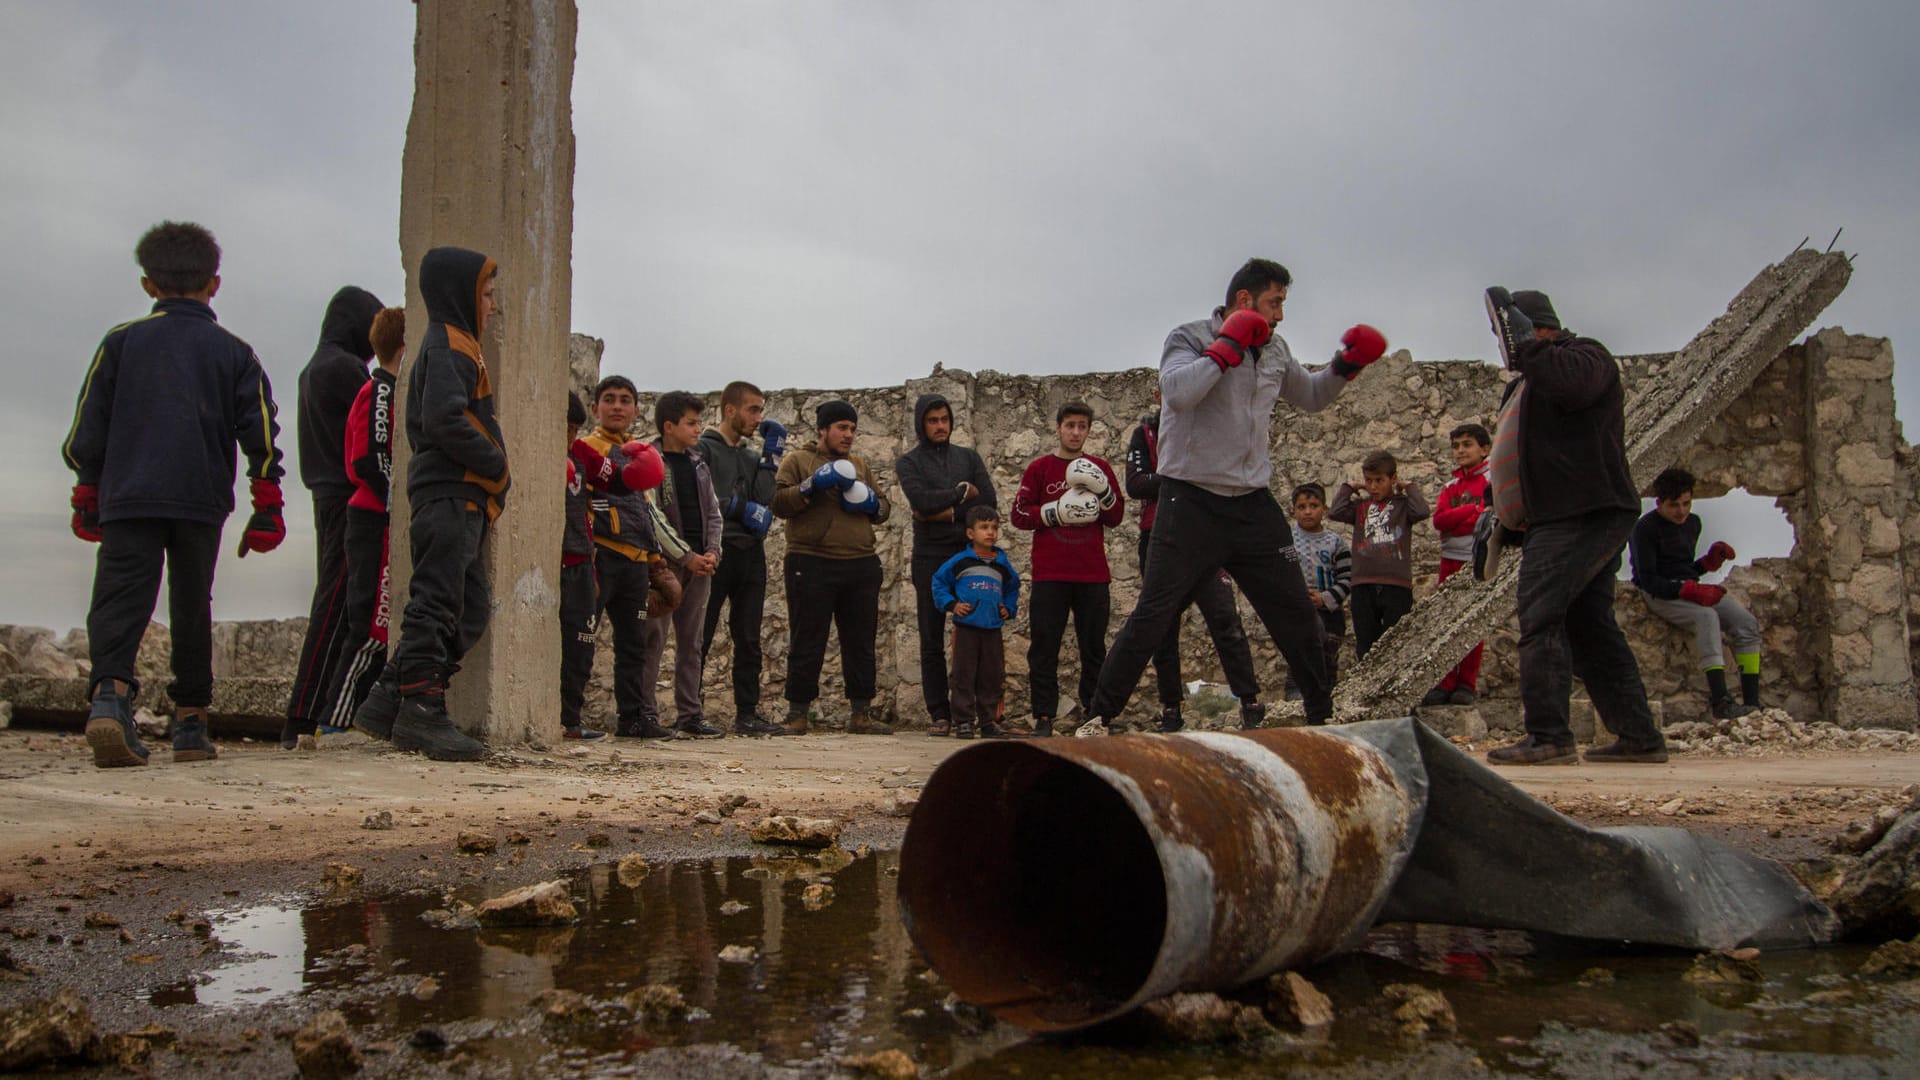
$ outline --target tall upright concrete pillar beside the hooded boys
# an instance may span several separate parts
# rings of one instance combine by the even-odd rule
[[[447,698],[455,723],[490,746],[559,736],[576,27],[574,0],[417,4],[399,196],[413,344],[426,329],[417,281],[422,254],[455,244],[501,267],[499,315],[482,348],[515,484],[482,555],[493,584],[492,628]],[[405,446],[396,446],[396,611],[411,573],[405,457]]]

